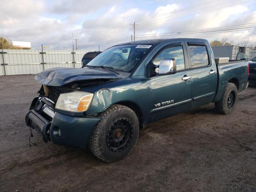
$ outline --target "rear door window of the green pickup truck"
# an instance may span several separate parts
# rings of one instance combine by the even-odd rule
[[[209,58],[206,46],[188,46],[192,67],[201,67],[209,65]]]

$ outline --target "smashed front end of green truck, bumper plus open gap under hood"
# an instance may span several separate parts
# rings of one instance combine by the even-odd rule
[[[39,96],[34,98],[26,114],[26,125],[36,130],[44,142],[85,148],[86,140],[101,118],[60,112],[56,103],[60,94],[76,92],[81,88],[106,83],[112,80],[87,80],[72,82],[63,86],[42,85]]]

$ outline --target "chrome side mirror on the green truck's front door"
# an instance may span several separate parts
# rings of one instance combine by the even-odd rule
[[[162,59],[159,64],[159,75],[175,74],[176,60],[173,58]]]

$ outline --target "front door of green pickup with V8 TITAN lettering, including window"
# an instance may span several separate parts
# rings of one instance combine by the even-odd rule
[[[191,71],[184,42],[175,42],[161,48],[152,58],[159,65],[164,58],[176,60],[176,74],[156,75],[149,78],[152,102],[150,103],[150,121],[158,120],[178,112],[190,109]]]

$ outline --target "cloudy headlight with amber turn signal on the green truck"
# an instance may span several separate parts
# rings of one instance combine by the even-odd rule
[[[84,112],[90,107],[93,95],[93,93],[81,91],[62,93],[55,108],[70,112]]]

